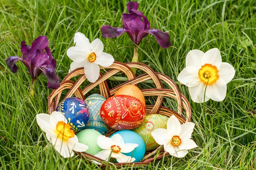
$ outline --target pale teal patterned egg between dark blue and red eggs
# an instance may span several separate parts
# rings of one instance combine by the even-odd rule
[[[102,135],[108,132],[108,126],[102,121],[100,115],[101,105],[105,100],[105,97],[99,94],[90,95],[85,99],[85,103],[90,110],[90,119],[86,128],[97,130]]]

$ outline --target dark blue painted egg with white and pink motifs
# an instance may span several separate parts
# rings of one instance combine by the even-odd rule
[[[85,129],[89,118],[90,111],[87,104],[82,99],[70,97],[64,99],[56,108],[56,111],[63,113],[75,132]]]

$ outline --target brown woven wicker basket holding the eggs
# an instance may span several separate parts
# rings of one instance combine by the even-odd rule
[[[142,70],[145,73],[135,77],[134,73],[131,71],[131,68],[137,68],[137,71]],[[106,70],[107,73],[104,73],[103,75],[101,75],[96,82],[89,84],[85,88],[81,88],[81,85],[83,85],[84,81],[86,80],[83,68],[77,68],[76,70],[69,73],[61,82],[61,86],[58,89],[52,91],[52,93],[49,95],[49,99],[48,99],[49,113],[52,113],[58,106],[59,102],[61,102],[61,98],[63,98],[64,96],[63,94],[64,90],[65,91],[68,90],[68,91],[63,99],[67,97],[75,96],[85,100],[86,93],[92,90],[95,86],[99,85],[100,94],[106,98],[109,98],[110,96],[114,95],[115,92],[124,85],[127,85],[127,84],[136,85],[138,83],[152,79],[155,85],[152,84],[151,86],[155,86],[155,88],[141,89],[145,97],[146,96],[157,97],[155,101],[155,105],[146,105],[147,115],[162,114],[168,117],[170,117],[171,115],[175,115],[182,124],[184,124],[187,121],[190,121],[191,108],[190,108],[189,102],[187,101],[186,97],[184,97],[184,95],[180,93],[175,82],[173,82],[173,80],[167,77],[166,75],[162,73],[156,73],[147,65],[141,64],[141,63],[135,63],[135,62],[125,63],[125,64],[121,62],[114,62],[111,66],[104,67],[101,69]],[[110,89],[108,87],[106,80],[117,73],[124,73],[128,77],[128,81]],[[76,82],[73,82],[70,80],[74,77],[77,79]],[[161,81],[163,81],[164,84],[166,84],[170,89],[163,88]],[[170,97],[176,100],[175,102],[177,105],[176,106],[177,108],[175,108],[176,111],[162,106],[163,99],[166,97]],[[110,129],[108,130],[108,133],[106,134],[106,136],[109,136],[116,131],[117,130]],[[157,152],[158,154],[155,155]],[[104,168],[106,166],[106,162],[103,162],[102,159],[94,157],[93,155],[90,155],[85,152],[82,152],[79,154],[81,154],[83,157],[87,159],[101,162],[102,163],[101,168]],[[162,157],[167,155],[168,155],[168,152],[164,152],[164,150],[160,146],[159,148],[153,150],[152,152],[146,153],[144,155],[143,161],[141,162],[135,162],[135,163],[129,163],[129,164],[115,163],[115,165],[116,166],[144,166],[149,164],[150,162],[153,162],[157,159],[161,159]]]

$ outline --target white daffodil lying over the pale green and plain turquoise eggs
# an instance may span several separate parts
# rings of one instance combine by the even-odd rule
[[[100,135],[97,138],[97,144],[103,150],[94,155],[96,157],[107,160],[111,153],[111,157],[116,158],[117,162],[119,163],[129,163],[135,161],[135,158],[126,156],[123,153],[131,152],[138,146],[138,144],[125,144],[124,139],[119,134],[115,134],[111,138]]]

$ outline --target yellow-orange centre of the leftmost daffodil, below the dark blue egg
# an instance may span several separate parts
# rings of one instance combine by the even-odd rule
[[[63,140],[72,138],[75,136],[74,130],[70,129],[71,126],[69,124],[66,124],[64,121],[58,121],[56,124],[56,135],[58,135],[58,138],[61,138]]]

